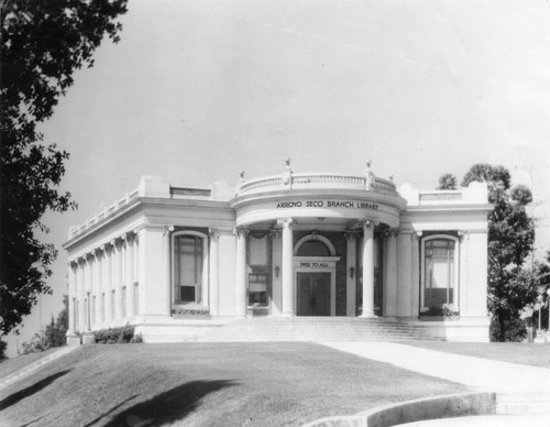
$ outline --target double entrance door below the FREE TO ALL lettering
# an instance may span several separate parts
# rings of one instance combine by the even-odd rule
[[[330,273],[297,273],[297,316],[330,316]]]

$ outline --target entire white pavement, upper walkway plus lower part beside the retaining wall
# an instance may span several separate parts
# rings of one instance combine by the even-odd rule
[[[496,393],[496,415],[428,419],[407,427],[550,426],[550,370],[393,342],[321,342],[362,358]]]

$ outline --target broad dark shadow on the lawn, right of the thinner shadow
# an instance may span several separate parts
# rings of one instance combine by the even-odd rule
[[[237,385],[233,381],[193,381],[139,403],[112,418],[106,427],[156,426],[184,418],[209,393]]]

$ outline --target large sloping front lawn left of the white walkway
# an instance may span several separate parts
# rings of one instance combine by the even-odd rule
[[[449,383],[319,344],[87,346],[0,391],[7,426],[285,426]]]

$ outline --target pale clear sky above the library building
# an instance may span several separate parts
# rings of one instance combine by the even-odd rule
[[[62,309],[61,244],[142,175],[175,186],[295,172],[362,174],[432,189],[475,163],[534,191],[550,249],[550,3],[546,0],[131,0],[121,42],[44,123],[70,153],[47,214],[59,249],[52,296],[9,353]]]

